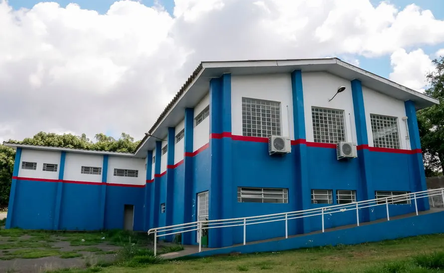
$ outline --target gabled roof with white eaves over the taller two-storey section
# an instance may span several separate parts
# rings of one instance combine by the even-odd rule
[[[338,58],[201,62],[162,111],[148,133],[163,138],[166,135],[167,127],[175,126],[183,119],[183,109],[185,107],[194,107],[194,105],[200,101],[203,94],[208,92],[208,82],[212,78],[218,78],[224,73],[251,75],[291,73],[295,70],[301,70],[302,72],[324,71],[350,81],[358,79],[363,86],[404,101],[415,101],[417,109],[439,103],[438,99],[377,76],[376,74],[343,62]],[[174,113],[175,109],[177,109],[177,113]],[[171,116],[171,118],[168,118],[169,116]],[[149,139],[151,139],[152,142],[149,141]],[[146,135],[136,148],[136,154],[139,154],[143,147],[153,149],[155,141],[156,138]],[[149,144],[148,146],[147,143]]]

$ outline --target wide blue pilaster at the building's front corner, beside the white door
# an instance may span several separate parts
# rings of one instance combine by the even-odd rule
[[[231,132],[231,74],[210,81],[210,133],[224,132]],[[231,138],[211,138],[210,149],[209,218],[232,218],[237,189],[233,186]],[[209,247],[231,246],[232,228],[210,230],[208,241]]]

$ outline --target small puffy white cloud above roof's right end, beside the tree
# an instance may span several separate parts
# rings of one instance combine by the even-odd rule
[[[424,91],[427,85],[426,74],[434,70],[432,60],[422,49],[407,53],[398,49],[390,56],[393,72],[390,80],[408,88]]]

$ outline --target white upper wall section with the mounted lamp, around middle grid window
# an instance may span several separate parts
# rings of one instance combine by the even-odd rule
[[[345,86],[345,91],[338,93],[329,102],[328,100],[333,97],[340,86]],[[302,73],[302,88],[306,141],[314,141],[311,106],[317,106],[344,110],[345,140],[356,143],[356,127],[350,81],[326,72],[305,72]]]

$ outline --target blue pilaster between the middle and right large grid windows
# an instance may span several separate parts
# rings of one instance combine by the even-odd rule
[[[365,108],[364,108],[364,95],[362,93],[361,81],[353,80],[351,81],[351,93],[353,98],[353,113],[355,116],[355,127],[356,127],[356,138],[357,145],[360,146],[358,149],[358,161],[359,169],[361,174],[361,183],[357,188],[356,194],[358,201],[374,199],[375,190],[373,188],[372,177],[371,177],[371,161],[370,161],[370,151],[368,148],[368,135],[367,135],[367,122],[365,119]],[[369,208],[362,210],[361,221],[373,221],[376,219],[376,215],[371,213]]]

